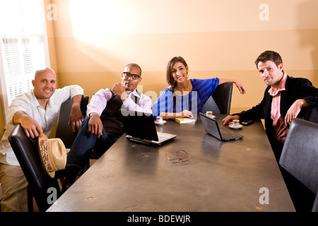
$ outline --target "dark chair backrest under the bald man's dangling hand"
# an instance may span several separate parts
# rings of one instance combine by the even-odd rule
[[[86,109],[88,105],[89,97],[83,95],[81,100],[81,112],[83,118],[86,116]],[[71,148],[74,139],[76,138],[77,132],[73,133],[71,124],[69,122],[69,114],[71,113],[72,100],[66,100],[59,111],[59,118],[57,119],[57,131],[55,132],[55,137],[60,138],[63,141],[66,148]]]

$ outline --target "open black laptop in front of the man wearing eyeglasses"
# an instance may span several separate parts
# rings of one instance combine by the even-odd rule
[[[158,132],[150,113],[122,109],[122,115],[126,138],[129,141],[144,145],[163,145],[176,137],[174,134]]]

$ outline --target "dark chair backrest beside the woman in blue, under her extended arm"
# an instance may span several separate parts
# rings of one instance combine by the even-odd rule
[[[206,101],[202,112],[212,111],[213,114],[230,114],[232,90],[232,83],[218,85],[211,97]]]

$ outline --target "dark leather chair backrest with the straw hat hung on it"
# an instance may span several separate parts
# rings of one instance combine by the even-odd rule
[[[51,206],[51,198],[59,198],[61,191],[57,179],[49,177],[42,167],[37,150],[37,139],[33,140],[25,136],[22,126],[18,124],[8,136],[8,141],[33,191],[37,207],[41,212],[47,210]],[[56,197],[53,197],[53,193]]]

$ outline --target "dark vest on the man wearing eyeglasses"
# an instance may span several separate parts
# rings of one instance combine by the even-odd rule
[[[136,105],[139,105],[139,97],[132,95],[131,98],[133,100],[135,99],[134,102]],[[119,138],[125,132],[124,121],[120,109],[126,109],[126,107],[124,107],[120,97],[112,93],[112,97],[107,101],[107,105],[100,115],[106,133],[115,138]]]

